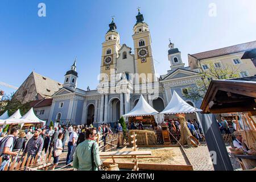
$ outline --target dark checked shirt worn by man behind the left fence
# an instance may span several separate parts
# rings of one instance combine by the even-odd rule
[[[34,138],[32,137],[27,142],[27,146],[24,150],[24,154],[27,153],[28,156],[35,157],[38,152],[41,152],[43,150],[43,144],[44,140],[42,137]]]

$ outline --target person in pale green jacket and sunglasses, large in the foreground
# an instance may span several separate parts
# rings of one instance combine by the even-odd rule
[[[85,141],[77,146],[73,156],[73,168],[79,171],[97,171],[98,167],[102,164],[100,159],[100,151],[96,140],[96,128],[89,128],[85,133]],[[93,146],[94,144],[94,146]],[[92,165],[92,146],[94,164]],[[94,166],[94,169],[92,169]]]

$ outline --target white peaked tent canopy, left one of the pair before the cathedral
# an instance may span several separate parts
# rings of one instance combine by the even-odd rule
[[[141,95],[139,97],[139,101],[137,105],[131,110],[129,113],[124,114],[124,117],[136,117],[136,116],[144,116],[144,115],[155,115],[158,114],[153,107],[151,107],[144,97]]]

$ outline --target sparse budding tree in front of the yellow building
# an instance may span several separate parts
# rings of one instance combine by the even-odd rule
[[[212,80],[224,80],[239,77],[239,66],[231,64],[215,65],[212,61],[204,63],[208,66],[205,72],[199,73],[201,79],[197,80],[196,86],[183,90],[183,96],[193,101],[203,100]],[[220,66],[220,67],[219,67]],[[203,69],[202,69],[203,71]]]

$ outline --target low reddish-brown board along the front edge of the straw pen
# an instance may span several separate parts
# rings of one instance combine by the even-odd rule
[[[105,163],[106,166],[112,163]],[[119,169],[133,169],[134,163],[117,163]],[[152,170],[152,171],[193,171],[191,165],[171,165],[171,164],[145,164],[139,163],[138,168],[141,170]]]

